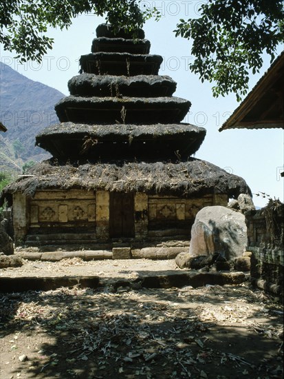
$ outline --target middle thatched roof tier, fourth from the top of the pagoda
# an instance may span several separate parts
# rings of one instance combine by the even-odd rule
[[[170,76],[114,76],[80,74],[68,82],[69,92],[79,96],[172,96],[177,83]]]

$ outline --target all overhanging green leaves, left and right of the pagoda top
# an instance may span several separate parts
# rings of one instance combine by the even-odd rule
[[[141,28],[146,19],[159,19],[159,12],[143,10],[141,0],[1,0],[0,43],[17,52],[21,62],[41,61],[53,39],[47,28],[68,28],[78,14],[106,17],[115,30]],[[190,70],[201,81],[214,81],[213,96],[234,92],[240,100],[248,91],[250,70],[259,72],[263,52],[274,59],[284,42],[283,0],[208,0],[198,19],[183,19],[176,36],[192,39],[194,57]]]

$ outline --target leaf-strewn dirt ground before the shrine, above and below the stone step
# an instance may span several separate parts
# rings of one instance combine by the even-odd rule
[[[0,274],[107,279],[175,269],[173,260],[72,258]],[[1,379],[283,378],[283,307],[248,283],[0,294],[0,328]]]

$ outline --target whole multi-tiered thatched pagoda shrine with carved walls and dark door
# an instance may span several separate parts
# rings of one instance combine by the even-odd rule
[[[208,205],[251,194],[239,176],[193,158],[206,136],[182,123],[190,101],[173,96],[160,55],[138,38],[101,24],[80,57],[60,123],[36,136],[52,158],[6,187],[16,245],[133,245],[190,240]]]

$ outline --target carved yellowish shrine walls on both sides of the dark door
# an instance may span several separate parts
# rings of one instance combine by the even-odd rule
[[[226,205],[228,201],[227,195],[178,198],[144,193],[130,194],[129,199],[133,212],[124,212],[122,207],[115,216],[127,214],[132,219],[127,225],[133,225],[131,240],[137,242],[160,238],[189,240],[197,212],[208,205]],[[107,191],[39,191],[34,198],[14,194],[16,245],[107,243],[112,240],[113,227],[110,203]]]

